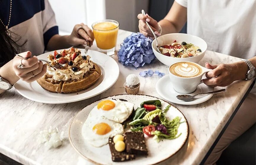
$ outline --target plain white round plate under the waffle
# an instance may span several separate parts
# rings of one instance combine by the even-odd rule
[[[63,49],[62,49],[63,50]],[[62,50],[57,50],[58,52]],[[82,54],[84,50],[80,49]],[[47,52],[37,56],[38,59],[47,60],[49,54],[53,54],[54,51]],[[105,90],[109,89],[112,85],[115,84],[119,76],[119,67],[114,59],[110,56],[107,56],[104,53],[88,50],[87,55],[91,56],[91,61],[99,65],[102,75],[96,81],[94,85],[86,90],[82,90],[75,93],[51,93],[47,90],[44,90],[36,81],[32,83],[26,83],[22,80],[19,80],[15,84],[15,88],[18,93],[20,93],[25,98],[28,98],[33,101],[40,103],[50,103],[50,104],[60,104],[60,103],[70,103],[75,101],[84,100],[96,96]]]

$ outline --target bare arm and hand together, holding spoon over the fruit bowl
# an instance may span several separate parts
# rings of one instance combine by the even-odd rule
[[[151,31],[146,26],[145,21],[149,22],[149,25],[152,27],[152,29],[155,31],[155,34],[157,35],[160,35],[160,28],[158,24],[162,27],[162,34],[178,33],[187,21],[187,8],[181,6],[176,1],[174,1],[173,6],[171,7],[168,14],[163,20],[159,22],[154,20],[148,14],[146,14],[146,16],[139,14],[138,18],[139,30],[146,36],[153,37]]]

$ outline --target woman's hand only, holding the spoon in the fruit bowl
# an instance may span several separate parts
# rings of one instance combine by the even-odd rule
[[[148,14],[146,14],[146,15],[139,14],[138,18],[139,18],[139,30],[140,30],[140,33],[144,34],[146,37],[152,37],[152,38],[154,37],[154,35],[152,34],[151,30],[146,25],[146,22],[148,22],[149,25],[151,26],[152,30],[154,31],[154,33],[156,35],[161,35],[159,33],[160,27],[159,27],[157,21],[154,20],[153,18],[151,18]]]

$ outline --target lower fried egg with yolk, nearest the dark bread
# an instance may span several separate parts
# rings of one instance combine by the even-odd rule
[[[90,112],[82,127],[83,138],[95,147],[108,143],[108,139],[117,134],[123,134],[123,126],[105,117]]]

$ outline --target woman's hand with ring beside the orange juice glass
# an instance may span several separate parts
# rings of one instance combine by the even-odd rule
[[[89,41],[89,46],[91,47],[94,41],[92,30],[83,23],[75,25],[72,33],[69,35],[69,44],[73,46],[86,45],[86,40]]]

